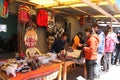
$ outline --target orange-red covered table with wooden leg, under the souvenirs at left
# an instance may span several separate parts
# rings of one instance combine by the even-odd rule
[[[62,63],[53,63],[49,66],[41,66],[40,68],[27,73],[17,73],[16,77],[7,76],[3,71],[0,71],[0,75],[2,76],[2,80],[29,80],[36,77],[42,77],[42,80],[46,80],[44,77],[56,71],[59,71],[57,80],[61,80]]]

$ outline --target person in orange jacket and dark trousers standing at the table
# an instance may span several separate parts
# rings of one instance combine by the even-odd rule
[[[86,47],[83,47],[85,64],[87,70],[87,80],[94,80],[94,67],[97,60],[97,49],[100,42],[99,36],[93,31],[92,27],[85,28],[87,36]]]

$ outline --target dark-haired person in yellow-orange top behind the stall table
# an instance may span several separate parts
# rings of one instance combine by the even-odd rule
[[[82,49],[82,46],[83,46],[83,40],[82,40],[82,37],[83,37],[83,33],[82,32],[78,32],[74,37],[73,37],[73,40],[72,40],[72,49],[77,49],[77,50],[80,50]]]

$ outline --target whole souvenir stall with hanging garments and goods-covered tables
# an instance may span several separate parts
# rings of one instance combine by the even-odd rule
[[[67,47],[64,52],[51,53],[52,43],[62,33],[68,34],[67,42],[71,40],[71,22],[63,13],[49,8],[40,8],[33,15],[34,7],[30,3],[18,5],[18,47],[14,58],[0,61],[0,77],[3,80],[67,80],[68,67],[75,68],[76,63],[83,65],[86,76],[85,60],[81,50]],[[79,24],[84,27],[90,16],[82,15]],[[38,29],[45,29],[48,52],[42,53],[38,45],[41,36]],[[39,32],[40,33],[40,32]],[[41,43],[42,44],[42,43]],[[61,56],[61,57],[58,57]],[[64,57],[64,59],[62,58]],[[74,66],[74,67],[73,67]],[[63,74],[62,74],[63,73]]]

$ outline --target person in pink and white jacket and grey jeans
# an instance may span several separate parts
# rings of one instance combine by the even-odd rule
[[[105,72],[109,71],[111,65],[111,57],[114,51],[114,38],[113,35],[110,35],[110,27],[108,27],[108,31],[105,32],[105,55],[104,55],[104,65],[103,70]]]

